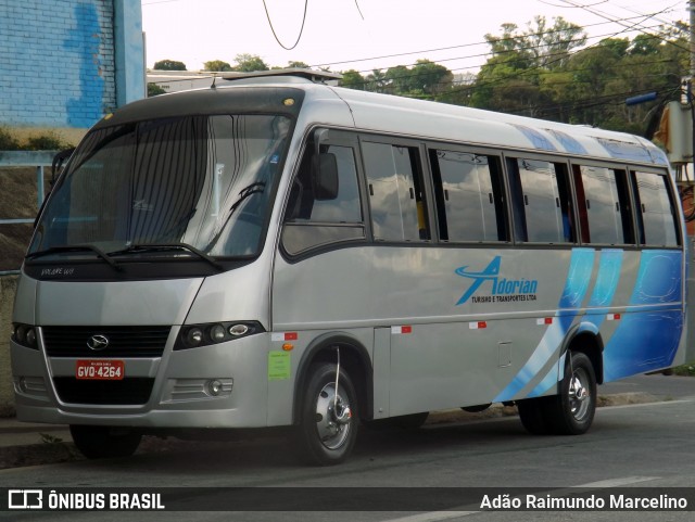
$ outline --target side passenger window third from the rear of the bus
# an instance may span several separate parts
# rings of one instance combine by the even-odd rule
[[[509,158],[507,167],[517,241],[574,242],[576,226],[565,165]]]

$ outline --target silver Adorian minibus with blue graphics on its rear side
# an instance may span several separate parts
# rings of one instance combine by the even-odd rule
[[[361,424],[492,403],[581,434],[597,384],[685,360],[685,229],[649,141],[308,76],[87,133],[22,268],[18,419],[90,458],[286,426],[332,464]]]

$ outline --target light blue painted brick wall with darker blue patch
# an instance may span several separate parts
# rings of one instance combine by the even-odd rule
[[[90,127],[142,72],[139,0],[0,0],[0,126]]]

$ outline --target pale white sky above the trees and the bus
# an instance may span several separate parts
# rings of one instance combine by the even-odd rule
[[[535,15],[551,26],[561,16],[592,44],[690,18],[687,0],[265,0],[267,14],[263,0],[141,3],[148,67],[176,60],[188,71],[252,54],[268,66],[298,61],[363,75],[417,60],[475,74],[490,51],[484,35],[500,36],[505,23],[527,30]]]

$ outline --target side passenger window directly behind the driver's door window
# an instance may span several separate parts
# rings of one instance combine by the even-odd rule
[[[429,240],[418,150],[365,142],[362,151],[369,184],[375,239]]]

